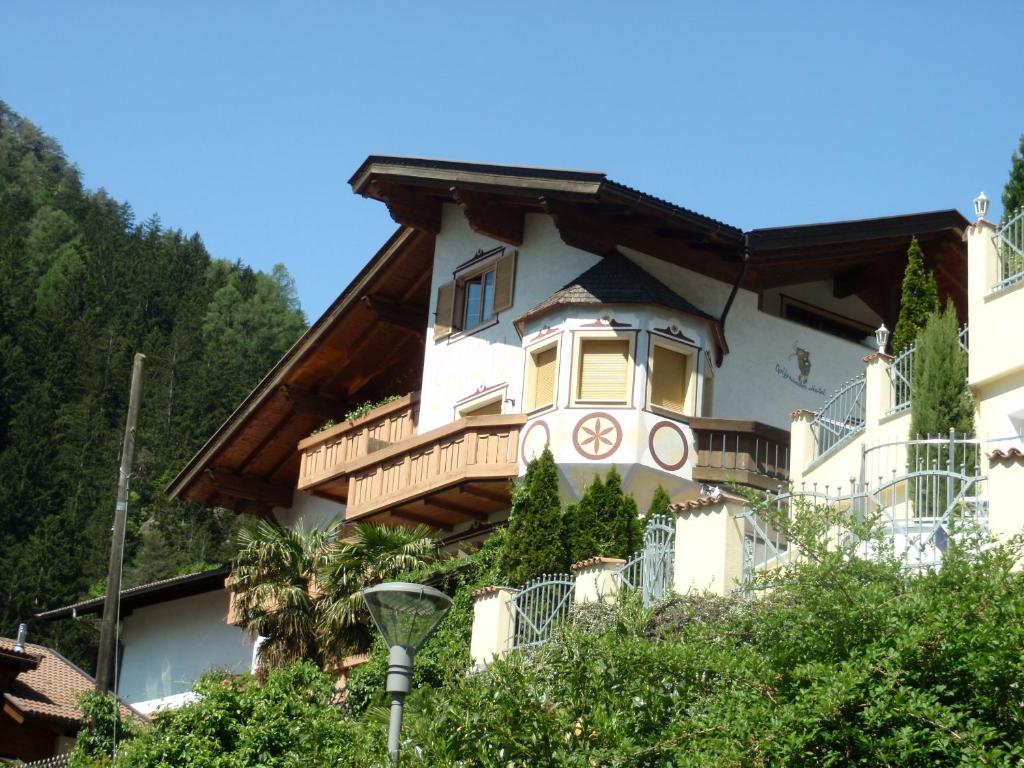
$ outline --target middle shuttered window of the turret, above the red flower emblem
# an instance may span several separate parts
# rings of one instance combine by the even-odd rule
[[[579,336],[572,367],[572,404],[629,406],[635,342],[634,334]]]

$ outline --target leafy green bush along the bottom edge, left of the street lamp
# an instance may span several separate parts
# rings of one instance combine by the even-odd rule
[[[118,768],[327,768],[379,766],[372,725],[332,705],[334,682],[308,662],[274,670],[259,684],[212,674],[199,701],[160,714],[126,743]],[[382,737],[379,739],[382,740]]]

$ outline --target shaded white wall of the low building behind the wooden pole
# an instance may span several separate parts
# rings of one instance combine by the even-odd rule
[[[248,672],[253,639],[229,627],[227,592],[215,590],[138,608],[124,618],[118,693],[152,710],[215,669]]]

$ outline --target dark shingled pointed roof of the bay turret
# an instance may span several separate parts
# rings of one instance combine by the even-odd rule
[[[657,304],[710,321],[716,333],[720,330],[716,317],[695,307],[621,253],[605,256],[515,322],[521,333],[526,321],[556,307],[595,304]]]

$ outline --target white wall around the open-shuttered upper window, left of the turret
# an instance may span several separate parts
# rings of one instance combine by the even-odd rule
[[[423,362],[418,431],[427,432],[454,421],[456,406],[475,392],[506,386],[504,397],[515,401],[506,412],[516,413],[522,404],[522,341],[512,321],[532,308],[573,278],[597,263],[598,256],[565,245],[551,218],[527,214],[521,246],[517,251],[515,290],[512,306],[498,315],[498,322],[476,333],[455,334],[434,341],[433,319],[437,309],[437,289],[450,283],[455,268],[477,251],[504,245],[473,231],[462,210],[445,205],[441,231],[434,252],[431,282],[431,326],[427,329],[427,349]]]

